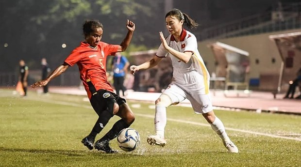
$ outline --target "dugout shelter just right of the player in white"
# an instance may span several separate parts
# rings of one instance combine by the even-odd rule
[[[211,77],[214,88],[223,84],[225,96],[230,91],[237,96],[241,92],[249,95],[249,52],[221,42],[210,44],[208,47],[211,48],[216,60],[215,76]]]

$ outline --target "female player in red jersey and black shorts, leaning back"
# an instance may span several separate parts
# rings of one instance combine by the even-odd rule
[[[94,148],[97,150],[107,153],[117,152],[111,149],[109,141],[117,137],[120,130],[129,127],[135,119],[125,99],[113,92],[107,80],[105,68],[108,55],[115,55],[116,52],[125,51],[129,46],[135,30],[135,24],[127,20],[126,28],[128,29],[128,33],[121,44],[111,45],[100,41],[103,26],[98,20],[85,21],[83,25],[85,41],[76,47],[64,63],[58,66],[46,79],[31,85],[31,88],[45,86],[51,79],[64,73],[69,66],[78,65],[85,91],[92,107],[99,116],[91,133],[82,140],[84,146],[90,150],[93,149],[96,135],[100,133],[114,115],[117,115],[121,119],[113,125],[107,134],[94,144]]]

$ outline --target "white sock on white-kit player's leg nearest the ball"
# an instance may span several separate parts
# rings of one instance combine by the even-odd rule
[[[166,126],[167,117],[166,117],[166,107],[156,105],[156,113],[155,113],[155,131],[156,135],[160,135],[164,138],[164,129]]]

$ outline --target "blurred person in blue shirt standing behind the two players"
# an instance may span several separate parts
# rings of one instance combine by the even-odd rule
[[[126,57],[122,56],[120,53],[116,53],[116,56],[113,58],[112,61],[112,69],[114,72],[113,80],[114,80],[114,87],[116,90],[116,94],[119,95],[119,91],[122,91],[122,95],[125,95],[126,88],[123,85],[124,78],[127,74],[128,67],[130,63],[126,59]]]

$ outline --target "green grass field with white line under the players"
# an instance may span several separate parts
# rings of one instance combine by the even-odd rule
[[[81,139],[97,115],[83,98],[31,91],[21,98],[0,90],[0,167],[301,167],[301,116],[216,110],[240,151],[231,154],[201,115],[171,106],[162,148],[146,142],[154,132],[154,106],[131,101],[136,116],[131,127],[141,145],[123,152],[113,140],[116,154],[89,151]]]

